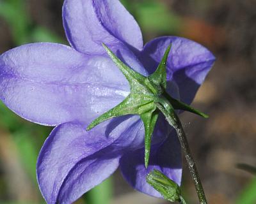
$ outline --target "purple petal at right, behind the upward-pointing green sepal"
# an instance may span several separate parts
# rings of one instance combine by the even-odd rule
[[[172,48],[167,62],[167,80],[177,83],[181,101],[190,104],[215,57],[195,41],[173,36],[156,38],[147,43],[141,52],[141,61],[149,73],[155,71],[170,44]]]

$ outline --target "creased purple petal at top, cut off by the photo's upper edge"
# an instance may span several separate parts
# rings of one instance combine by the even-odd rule
[[[143,47],[140,27],[118,0],[65,0],[63,25],[70,45],[86,54],[104,53],[102,42]]]

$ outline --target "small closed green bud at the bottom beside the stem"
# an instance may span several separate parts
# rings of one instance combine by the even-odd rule
[[[186,203],[181,196],[180,187],[173,180],[169,179],[161,173],[161,171],[153,170],[147,175],[147,182],[154,187],[156,191],[161,193],[164,199],[171,202]]]

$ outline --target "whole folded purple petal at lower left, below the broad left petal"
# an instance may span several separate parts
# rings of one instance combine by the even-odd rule
[[[163,128],[156,128],[154,143],[163,142]],[[137,115],[108,120],[88,132],[79,122],[61,124],[53,129],[38,157],[37,177],[42,195],[47,203],[72,203],[108,178],[122,155],[132,156],[130,152],[143,145],[144,127]],[[144,152],[140,153],[144,162]],[[137,159],[136,155],[133,159]],[[133,162],[137,160],[127,161],[127,165]]]

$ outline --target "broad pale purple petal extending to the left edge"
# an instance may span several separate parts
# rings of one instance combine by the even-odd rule
[[[122,54],[127,64],[136,64],[133,55]],[[33,122],[55,126],[80,120],[86,126],[128,94],[127,80],[103,55],[84,55],[54,43],[34,43],[0,56],[0,99]]]

